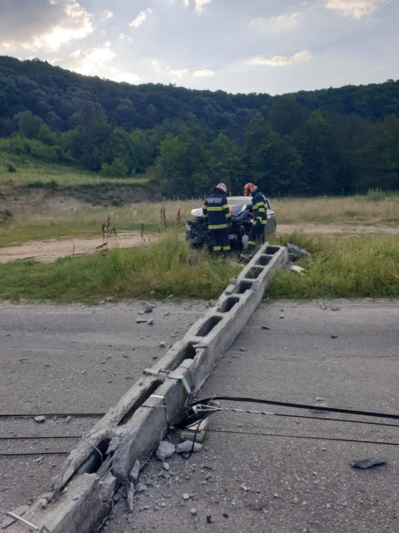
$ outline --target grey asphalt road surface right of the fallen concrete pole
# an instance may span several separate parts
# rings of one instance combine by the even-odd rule
[[[243,396],[398,414],[398,301],[326,305],[323,310],[315,301],[264,303],[200,397]],[[332,311],[334,306],[340,309]],[[213,414],[204,449],[189,461],[173,456],[169,470],[152,459],[141,471],[133,515],[120,500],[107,533],[399,532],[399,447],[382,444],[399,443],[399,428],[325,419],[398,422],[223,405],[318,419]],[[388,456],[386,465],[351,466],[376,456]]]

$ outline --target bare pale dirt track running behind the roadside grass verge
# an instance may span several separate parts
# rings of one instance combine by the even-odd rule
[[[344,226],[344,225],[278,225],[278,233],[285,235],[293,232],[322,233],[334,235],[364,235],[366,233],[379,233],[383,235],[399,235],[398,227],[376,226]],[[141,238],[140,232],[119,234],[116,239],[109,239],[109,248],[129,248],[151,244],[157,235],[148,234]],[[51,263],[58,257],[72,255],[93,254],[99,251],[98,247],[104,244],[102,238],[87,237],[76,239],[51,239],[47,241],[30,241],[16,246],[0,248],[0,263],[15,261],[16,259],[36,259]]]

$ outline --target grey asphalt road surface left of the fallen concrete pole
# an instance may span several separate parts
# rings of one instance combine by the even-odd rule
[[[156,303],[156,302],[155,302]],[[202,316],[207,304],[12,305],[0,303],[0,515],[37,497],[77,438],[116,404],[163,352]],[[153,318],[154,324],[136,323]],[[166,348],[160,348],[160,343]],[[38,424],[33,415],[47,417]],[[72,436],[64,439],[37,437]],[[36,437],[33,439],[21,437]],[[5,456],[10,453],[38,455]]]

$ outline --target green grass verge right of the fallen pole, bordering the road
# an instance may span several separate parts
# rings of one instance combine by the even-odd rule
[[[399,298],[399,235],[307,235],[275,240],[307,249],[298,266],[282,270],[268,287],[270,298]]]

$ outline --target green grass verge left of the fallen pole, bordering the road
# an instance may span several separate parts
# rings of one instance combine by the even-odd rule
[[[150,291],[158,298],[217,298],[239,270],[193,252],[172,234],[152,246],[115,249],[104,256],[1,264],[0,298],[94,303],[106,296],[149,298]]]

